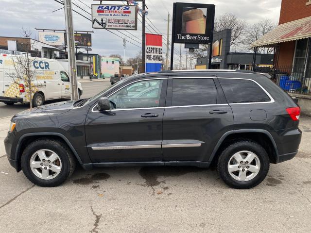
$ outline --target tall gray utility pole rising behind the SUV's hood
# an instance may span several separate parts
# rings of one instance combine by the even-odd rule
[[[68,63],[69,63],[69,76],[71,84],[71,100],[78,100],[78,85],[77,85],[77,66],[76,57],[74,54],[74,34],[72,22],[72,8],[71,0],[64,0],[65,19],[66,19],[66,35],[68,46]]]

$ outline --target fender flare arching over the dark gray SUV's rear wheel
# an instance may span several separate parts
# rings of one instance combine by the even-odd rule
[[[230,135],[230,134],[235,134],[235,133],[264,133],[265,135],[267,135],[270,139],[270,141],[272,142],[272,145],[274,147],[274,150],[276,152],[276,164],[279,161],[279,156],[278,156],[278,150],[277,150],[277,146],[276,146],[276,142],[273,138],[273,136],[271,135],[271,133],[267,130],[262,130],[262,129],[243,129],[243,130],[231,130],[228,131],[226,133],[224,133],[221,138],[219,139],[219,141],[217,142],[216,146],[214,147],[214,150],[210,156],[210,161],[213,161],[217,150],[220,148],[220,146],[222,145],[222,143],[225,141],[225,138]]]

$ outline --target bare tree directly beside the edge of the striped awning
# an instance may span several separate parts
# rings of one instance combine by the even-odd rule
[[[262,19],[249,27],[245,33],[244,44],[248,50],[252,50],[250,45],[261,38],[263,35],[269,33],[276,27],[276,24],[271,19]],[[269,53],[271,48],[258,48],[259,53]]]

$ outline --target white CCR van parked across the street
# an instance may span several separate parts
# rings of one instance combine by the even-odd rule
[[[0,54],[0,102],[12,105],[17,102],[29,102],[29,94],[23,83],[14,83],[12,76],[16,73],[13,66],[16,55]],[[33,59],[33,58],[32,58]],[[53,59],[35,58],[31,64],[35,70],[33,106],[40,106],[45,100],[70,98],[69,75],[64,67]],[[78,82],[79,98],[83,93]]]

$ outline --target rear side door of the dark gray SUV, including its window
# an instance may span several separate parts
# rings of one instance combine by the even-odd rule
[[[233,126],[232,110],[215,76],[169,78],[164,161],[208,162],[219,139]]]

